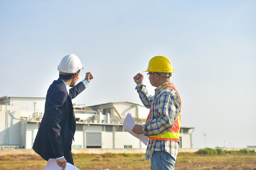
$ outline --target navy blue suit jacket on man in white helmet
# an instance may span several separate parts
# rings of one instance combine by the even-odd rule
[[[45,113],[35,138],[33,149],[42,158],[59,158],[71,153],[76,121],[72,99],[85,89],[79,82],[69,89],[59,78],[50,85],[45,101]]]

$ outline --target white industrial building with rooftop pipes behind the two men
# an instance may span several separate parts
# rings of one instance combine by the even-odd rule
[[[42,117],[45,97],[0,97],[0,149],[32,148]],[[73,104],[76,116],[72,148],[145,148],[139,139],[123,128],[127,113],[143,124],[149,109],[131,102],[93,106]],[[182,124],[181,124],[182,125]],[[194,127],[180,130],[181,148],[192,148]]]

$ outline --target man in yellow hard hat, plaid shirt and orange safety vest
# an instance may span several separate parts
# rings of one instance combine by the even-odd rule
[[[151,159],[151,170],[174,170],[180,149],[180,95],[170,81],[174,73],[172,63],[164,56],[151,58],[148,63],[148,79],[155,86],[151,96],[143,84],[143,74],[133,77],[140,100],[150,108],[146,123],[136,124],[133,132],[149,137],[145,159]]]

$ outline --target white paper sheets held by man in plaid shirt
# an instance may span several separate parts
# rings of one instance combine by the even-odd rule
[[[132,119],[132,115],[130,113],[128,113],[124,119],[124,123],[123,123],[123,127],[124,129],[129,132],[131,135],[135,136],[136,138],[138,138],[139,140],[141,140],[145,145],[147,145],[148,142],[148,136],[144,136],[143,134],[135,134],[132,129],[134,127],[135,123]]]

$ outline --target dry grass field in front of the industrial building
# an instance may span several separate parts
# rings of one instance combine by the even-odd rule
[[[74,154],[80,170],[150,170],[141,154]],[[44,170],[46,161],[38,155],[4,155],[0,170]],[[179,153],[176,170],[256,170],[256,155],[196,155]]]

